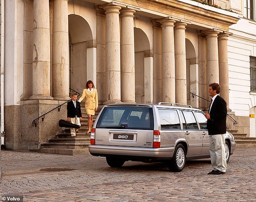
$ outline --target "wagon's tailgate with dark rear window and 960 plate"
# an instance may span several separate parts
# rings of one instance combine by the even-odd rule
[[[95,144],[152,147],[152,107],[105,107],[96,124]]]

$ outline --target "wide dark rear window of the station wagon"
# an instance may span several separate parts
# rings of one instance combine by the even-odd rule
[[[96,128],[153,130],[153,110],[150,107],[105,107]]]

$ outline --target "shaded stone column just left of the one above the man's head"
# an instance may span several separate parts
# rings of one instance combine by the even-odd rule
[[[199,96],[203,97],[204,99],[208,98],[208,87],[207,84],[207,71],[206,71],[206,53],[207,53],[207,43],[206,43],[206,35],[201,33],[200,31],[197,32],[198,37],[198,60],[199,60]],[[207,109],[209,103],[199,98],[199,109],[205,110]]]

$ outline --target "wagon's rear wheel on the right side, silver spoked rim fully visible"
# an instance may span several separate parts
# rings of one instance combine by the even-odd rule
[[[182,144],[178,144],[174,150],[169,169],[174,172],[180,172],[185,167],[186,150]]]

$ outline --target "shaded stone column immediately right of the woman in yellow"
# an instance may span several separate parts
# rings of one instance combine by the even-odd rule
[[[99,8],[99,6],[94,7],[96,10],[97,25],[96,25],[96,39],[97,39],[97,49],[96,49],[96,72],[97,72],[97,90],[98,90],[98,102],[99,105],[106,100],[105,96],[105,47],[106,47],[106,16],[105,10]]]

